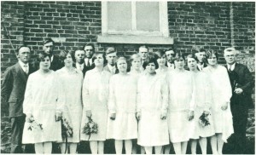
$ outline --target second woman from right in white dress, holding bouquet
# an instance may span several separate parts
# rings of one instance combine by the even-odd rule
[[[207,137],[215,135],[214,124],[211,115],[212,93],[209,78],[205,72],[197,69],[198,59],[195,55],[187,56],[189,71],[192,72],[195,80],[195,118],[193,119],[195,129],[191,140],[191,153],[196,154],[196,145],[199,141],[201,153],[207,154]],[[207,126],[200,123],[200,117],[204,113],[210,124]]]

